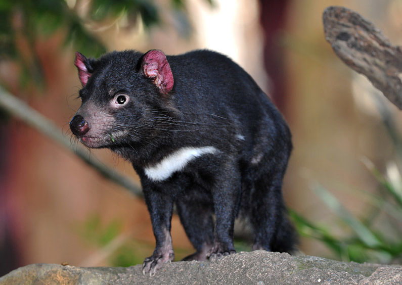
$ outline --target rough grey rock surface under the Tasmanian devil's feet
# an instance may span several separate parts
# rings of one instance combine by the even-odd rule
[[[75,267],[31,264],[0,278],[3,284],[402,284],[402,266],[339,262],[266,251],[213,262],[172,262],[154,276],[141,265]]]

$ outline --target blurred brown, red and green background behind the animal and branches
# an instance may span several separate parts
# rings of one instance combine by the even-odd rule
[[[211,49],[239,63],[293,133],[284,196],[301,252],[401,263],[401,113],[332,52],[328,6],[350,8],[402,44],[401,0],[3,0],[0,84],[72,138],[75,51]],[[0,92],[0,96],[5,96]],[[138,182],[109,150],[91,156]],[[172,219],[176,260],[193,252]],[[241,240],[238,250],[250,250]],[[128,266],[152,254],[141,198],[0,109],[0,276],[30,263]]]

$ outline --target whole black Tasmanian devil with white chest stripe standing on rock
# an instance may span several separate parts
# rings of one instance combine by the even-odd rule
[[[70,122],[89,148],[108,148],[141,178],[156,247],[150,274],[174,258],[176,211],[196,252],[185,260],[235,253],[235,218],[246,219],[253,250],[290,252],[282,180],[292,149],[282,115],[254,80],[211,51],[165,56],[151,50],[76,53],[81,107]]]

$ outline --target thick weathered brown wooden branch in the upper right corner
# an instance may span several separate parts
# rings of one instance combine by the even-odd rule
[[[325,9],[323,23],[335,54],[402,110],[402,47],[393,46],[371,22],[344,7]]]

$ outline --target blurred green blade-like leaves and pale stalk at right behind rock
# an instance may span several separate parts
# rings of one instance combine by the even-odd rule
[[[368,159],[362,162],[371,172],[378,184],[374,194],[365,191],[349,191],[359,195],[365,212],[361,217],[350,213],[322,185],[312,186],[328,209],[334,213],[343,230],[349,232],[340,236],[325,224],[309,221],[295,211],[290,211],[301,236],[316,239],[326,245],[335,258],[344,261],[400,263],[402,261],[402,175],[398,166],[402,165],[402,139],[394,118],[381,93],[372,92],[383,126],[393,143],[396,154],[387,163],[384,175]],[[390,171],[391,170],[391,171]]]

